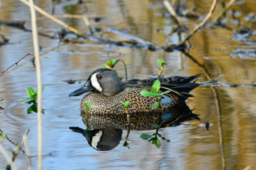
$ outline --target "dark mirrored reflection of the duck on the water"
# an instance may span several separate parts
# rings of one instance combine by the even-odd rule
[[[82,116],[83,116],[82,112]],[[169,109],[168,112],[139,112],[131,113],[131,125],[127,125],[127,115],[122,114],[104,114],[88,115],[88,119],[83,119],[87,127],[92,131],[84,131],[79,127],[70,127],[72,131],[79,132],[86,137],[89,145],[96,150],[113,150],[122,139],[123,131],[146,131],[160,129],[164,127],[173,127],[180,125],[187,120],[198,119],[198,115],[192,113],[192,110],[185,102],[177,104]],[[141,132],[143,134],[143,132]]]

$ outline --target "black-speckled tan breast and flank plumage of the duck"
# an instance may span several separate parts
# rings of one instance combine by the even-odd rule
[[[140,91],[146,89],[145,87],[127,87],[116,96],[102,96],[99,93],[88,93],[83,97],[81,102],[82,115],[86,110],[84,103],[91,103],[91,107],[88,113],[93,114],[118,114],[124,113],[124,106],[119,102],[125,102],[129,100],[129,105],[127,107],[129,113],[136,112],[147,112],[147,111],[157,111],[152,110],[152,104],[156,102],[154,96],[143,97]],[[150,90],[150,89],[148,89]],[[173,96],[173,102],[168,104],[163,104],[163,106],[174,106],[177,103],[178,97]]]

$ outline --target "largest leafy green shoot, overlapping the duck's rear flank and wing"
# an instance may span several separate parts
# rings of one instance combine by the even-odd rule
[[[167,90],[165,92],[159,93],[161,87],[161,83],[160,81],[157,79],[154,84],[152,85],[152,92],[148,91],[147,89],[143,89],[140,91],[140,94],[144,97],[148,97],[148,96],[155,96],[156,97],[156,102],[152,105],[152,109],[158,109],[158,110],[162,110],[162,106],[160,103],[160,98],[170,92],[170,90]]]

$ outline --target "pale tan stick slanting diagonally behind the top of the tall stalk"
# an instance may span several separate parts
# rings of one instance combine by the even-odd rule
[[[28,3],[28,1],[26,0],[20,0],[22,1],[22,3],[28,5],[28,6],[31,6],[31,4]],[[34,4],[32,5],[33,8],[35,8],[36,11],[38,11],[39,13],[41,13],[42,15],[44,15],[45,17],[47,18],[50,18],[51,20],[53,20],[54,22],[62,25],[63,27],[69,29],[70,31],[76,33],[77,35],[79,36],[83,36],[83,34],[79,31],[77,31],[77,29],[74,29],[73,27],[70,27],[69,25],[65,24],[64,22],[62,22],[61,20],[55,18],[55,17],[52,17],[52,15],[50,15],[49,13],[45,12],[44,10],[42,10],[41,8],[39,8],[38,6],[35,6]]]

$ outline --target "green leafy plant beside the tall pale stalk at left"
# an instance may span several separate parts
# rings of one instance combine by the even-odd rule
[[[42,87],[42,92],[44,91],[44,86]],[[22,103],[33,103],[28,109],[27,109],[27,113],[30,114],[32,113],[32,111],[34,111],[35,113],[37,113],[37,103],[36,103],[36,99],[38,96],[38,90],[34,90],[31,87],[28,87],[27,89],[27,93],[29,98],[28,99],[24,99],[24,101],[22,101]],[[42,113],[44,113],[44,110],[42,110]]]

